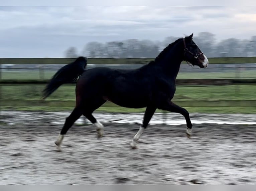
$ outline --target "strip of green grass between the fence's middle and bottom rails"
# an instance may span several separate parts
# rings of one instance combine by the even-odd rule
[[[3,99],[39,100],[44,86],[2,86]],[[173,100],[254,100],[256,86],[232,85],[176,88]],[[47,100],[75,100],[75,86],[61,86]]]

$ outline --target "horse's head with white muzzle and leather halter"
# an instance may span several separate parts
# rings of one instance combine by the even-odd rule
[[[208,59],[192,38],[193,33],[190,36],[183,38],[185,51],[184,60],[191,63],[193,66],[197,65],[200,68],[206,68],[209,64]]]

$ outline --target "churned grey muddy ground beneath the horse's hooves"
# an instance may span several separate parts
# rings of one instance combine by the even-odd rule
[[[138,123],[104,123],[100,140],[75,124],[58,152],[54,120],[2,120],[0,184],[256,184],[256,125],[196,124],[187,139],[185,125],[151,124],[131,149]]]

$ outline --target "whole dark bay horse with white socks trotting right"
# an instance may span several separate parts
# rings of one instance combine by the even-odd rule
[[[171,99],[175,93],[175,79],[182,61],[200,68],[208,66],[208,59],[192,39],[193,34],[179,38],[169,44],[154,61],[135,70],[96,67],[85,70],[87,59],[79,57],[74,63],[59,69],[44,90],[44,98],[49,96],[63,83],[76,85],[76,106],[66,118],[60,134],[55,141],[57,148],[64,135],[74,122],[84,115],[95,126],[98,137],[103,136],[104,126],[92,115],[107,100],[122,107],[146,107],[143,122],[131,143],[132,148],[146,129],[155,110],[162,109],[180,113],[186,120],[186,134],[192,133],[192,123],[186,109],[174,104]]]

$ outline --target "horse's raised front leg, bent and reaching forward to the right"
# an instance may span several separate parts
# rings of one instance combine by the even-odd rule
[[[183,115],[185,117],[186,125],[187,125],[187,128],[186,128],[185,132],[186,132],[187,137],[190,138],[190,136],[192,134],[193,125],[191,123],[189,113],[185,108],[180,107],[180,106],[176,105],[175,103],[173,103],[171,101],[168,101],[168,102],[165,102],[165,103],[161,102],[161,104],[158,106],[158,109],[171,111],[171,112],[174,112],[174,113],[180,113],[181,115]]]

